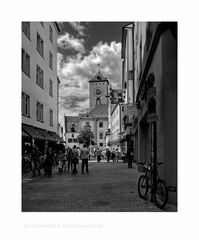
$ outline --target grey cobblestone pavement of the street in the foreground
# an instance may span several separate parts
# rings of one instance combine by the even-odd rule
[[[24,212],[160,212],[149,201],[139,198],[137,181],[140,173],[126,163],[89,162],[89,174],[58,174],[52,178],[26,174],[22,178]],[[166,212],[176,211],[168,205]]]

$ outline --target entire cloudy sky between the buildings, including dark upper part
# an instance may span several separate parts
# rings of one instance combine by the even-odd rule
[[[100,64],[113,88],[121,87],[121,38],[126,22],[60,22],[57,69],[60,122],[89,107],[89,84]]]

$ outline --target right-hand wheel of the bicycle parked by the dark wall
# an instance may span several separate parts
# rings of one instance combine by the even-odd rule
[[[158,208],[163,209],[168,201],[168,188],[166,183],[159,179],[154,193],[154,203]]]

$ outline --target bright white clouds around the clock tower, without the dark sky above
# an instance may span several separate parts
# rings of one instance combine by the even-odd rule
[[[65,33],[58,39],[58,46],[73,48],[76,54],[64,56],[58,53],[57,69],[60,79],[60,119],[63,115],[76,116],[89,109],[89,80],[98,72],[108,78],[113,88],[121,84],[121,43],[99,42],[85,54],[84,40]]]

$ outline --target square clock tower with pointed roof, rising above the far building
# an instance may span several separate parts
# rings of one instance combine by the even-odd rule
[[[108,104],[108,80],[104,77],[100,70],[89,81],[90,84],[90,111],[99,104]]]

